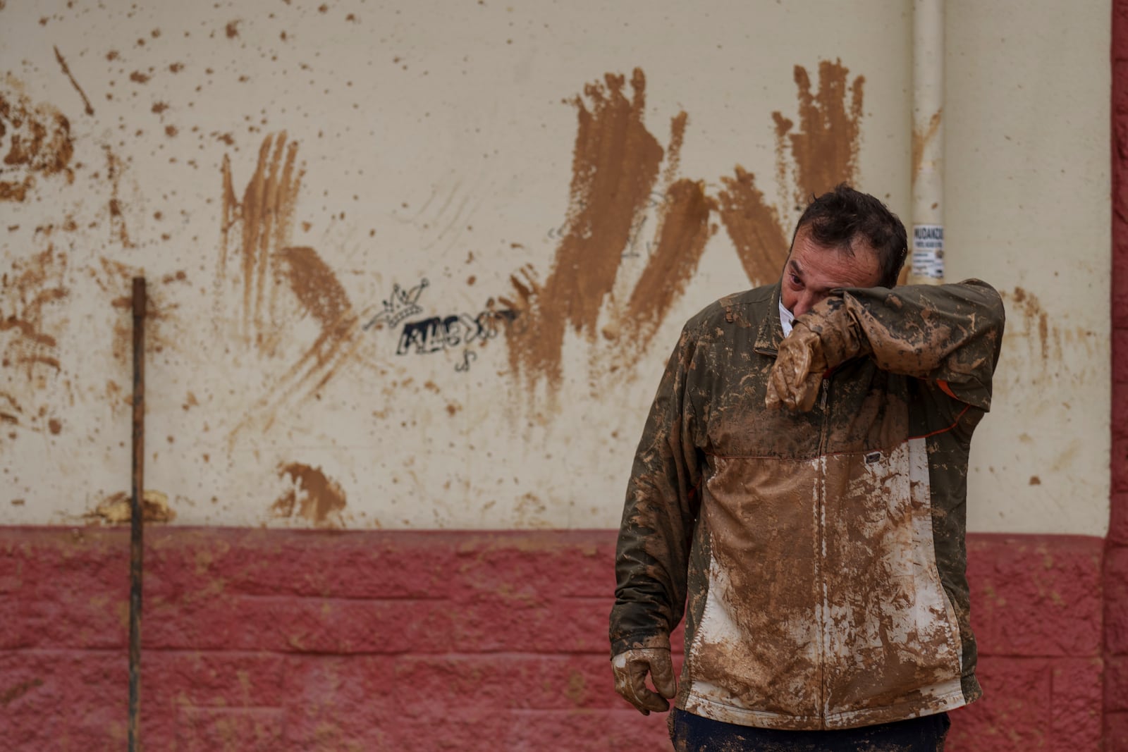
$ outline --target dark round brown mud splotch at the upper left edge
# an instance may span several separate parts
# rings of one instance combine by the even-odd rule
[[[74,182],[70,121],[50,105],[33,105],[11,76],[0,87],[0,201],[24,201],[37,175]]]

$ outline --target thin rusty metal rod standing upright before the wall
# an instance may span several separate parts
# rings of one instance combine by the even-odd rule
[[[144,277],[133,277],[133,484],[130,498],[130,752],[141,749],[141,560],[144,531]]]

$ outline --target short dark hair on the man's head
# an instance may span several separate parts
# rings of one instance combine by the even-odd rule
[[[811,239],[820,246],[838,248],[853,255],[856,240],[865,240],[878,251],[883,287],[897,284],[897,275],[908,255],[908,236],[905,225],[889,209],[867,193],[855,191],[839,183],[818,198],[813,198],[795,225],[791,242],[804,227],[810,228]]]

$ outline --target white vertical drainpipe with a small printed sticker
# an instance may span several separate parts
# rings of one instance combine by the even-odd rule
[[[944,281],[944,0],[913,2],[909,283]]]

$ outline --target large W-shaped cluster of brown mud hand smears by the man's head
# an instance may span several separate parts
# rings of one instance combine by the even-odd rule
[[[629,368],[644,354],[673,303],[697,272],[705,246],[715,231],[713,212],[720,214],[741,265],[754,284],[778,278],[787,256],[788,212],[779,206],[803,205],[838,183],[856,182],[863,88],[865,79],[849,80],[840,61],[819,63],[819,85],[801,65],[794,69],[799,107],[792,121],[773,113],[776,178],[781,196],[768,202],[755,176],[739,165],[734,176],[721,178],[716,197],[699,182],[678,178],[685,140],[686,113],[671,123],[668,149],[643,122],[645,78],[635,70],[627,96],[623,76],[608,73],[589,83],[572,99],[578,130],[573,148],[570,202],[552,269],[541,282],[526,264],[510,277],[512,292],[500,300],[519,311],[523,326],[506,331],[510,373],[530,392],[546,382],[548,393],[562,380],[562,347],[571,327],[596,343],[601,315],[610,322],[602,335],[615,342],[616,363],[610,371]],[[795,123],[799,123],[796,127]],[[656,205],[658,229],[641,275],[616,301],[616,276],[634,249],[662,172],[662,202]],[[791,178],[790,186],[785,185]],[[632,251],[632,253],[627,253]],[[637,267],[634,267],[637,269]],[[622,289],[622,287],[620,287]],[[591,351],[592,353],[594,351]],[[594,360],[596,355],[591,355]]]

